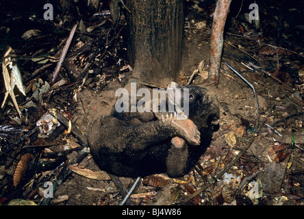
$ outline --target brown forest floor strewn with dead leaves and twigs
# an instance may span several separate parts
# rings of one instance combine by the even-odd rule
[[[192,84],[216,94],[220,128],[192,171],[178,179],[165,174],[144,177],[130,201],[134,205],[303,205],[303,47],[292,42],[286,48],[279,40],[270,44],[276,36],[263,38],[257,31],[244,30],[241,21],[229,21],[220,81],[215,87],[206,81],[213,7],[211,3],[187,5],[179,83],[186,84],[205,60],[205,68],[194,76]],[[62,14],[55,18],[55,25],[47,23],[51,28],[32,31],[29,38],[14,36],[16,25],[3,23],[2,30],[6,27],[6,33],[12,34],[10,39],[14,36],[20,40],[4,41],[0,48],[4,54],[8,44],[12,47],[26,97],[14,90],[21,119],[10,98],[0,114],[1,204],[18,204],[21,200],[27,205],[42,204],[45,182],[54,183],[62,176],[64,182],[48,204],[118,205],[122,201],[114,182],[99,170],[92,156],[84,153],[79,158],[84,142],[75,138],[73,129],[69,132],[65,126],[55,125],[52,119],[56,116],[51,116],[51,109],[55,109],[71,120],[73,127],[86,133],[91,120],[110,115],[115,91],[128,81],[130,67],[121,37],[125,21],[122,18],[115,28],[109,11],[102,13],[85,22],[87,28],[76,31],[77,40],[72,41],[68,61],[64,62],[57,83],[51,86],[53,70],[72,26],[64,27],[77,21],[75,17]],[[36,28],[30,29],[39,29],[45,22],[37,19]],[[81,75],[87,75],[86,81],[77,80]],[[0,92],[2,103],[4,85]],[[65,124],[60,116],[58,120]],[[75,160],[78,165],[73,165]],[[135,181],[119,179],[127,190]],[[201,189],[205,185],[207,188]],[[198,190],[199,195],[186,201]]]

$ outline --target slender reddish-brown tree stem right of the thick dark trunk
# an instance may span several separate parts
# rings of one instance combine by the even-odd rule
[[[220,58],[222,57],[224,43],[224,27],[231,1],[232,0],[218,0],[212,23],[208,81],[210,81],[210,83],[215,82],[216,85],[218,84],[220,76]]]

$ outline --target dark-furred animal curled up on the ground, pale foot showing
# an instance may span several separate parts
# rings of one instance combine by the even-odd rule
[[[180,106],[188,105],[186,114],[179,105],[173,105],[173,111],[168,110],[169,95],[157,100],[160,104],[156,110],[155,99],[144,103],[144,112],[139,108],[122,111],[115,107],[111,116],[101,116],[88,125],[90,151],[101,170],[121,177],[164,172],[169,177],[181,177],[199,161],[217,126],[218,101],[207,88],[180,86],[175,82],[169,88],[181,91],[179,95],[173,92],[173,97]],[[160,110],[161,106],[166,106],[165,110]],[[127,107],[130,109],[132,104]],[[147,110],[149,107],[153,110]]]

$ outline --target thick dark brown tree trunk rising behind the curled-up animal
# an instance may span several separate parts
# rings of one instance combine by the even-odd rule
[[[179,79],[183,0],[126,1],[133,76],[166,86]]]

